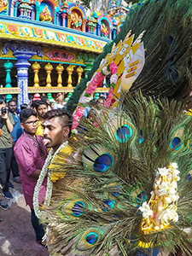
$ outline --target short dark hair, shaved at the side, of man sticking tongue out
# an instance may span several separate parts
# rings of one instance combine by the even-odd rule
[[[72,131],[72,124],[73,124],[72,116],[67,111],[62,109],[52,109],[52,110],[49,110],[47,113],[44,113],[44,121],[49,119],[55,119],[55,118],[59,118],[61,120],[61,125],[63,127],[64,126],[69,127],[68,136],[70,137],[71,131]]]

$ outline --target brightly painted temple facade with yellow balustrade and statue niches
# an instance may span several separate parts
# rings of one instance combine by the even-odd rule
[[[0,94],[73,92],[129,13],[121,0],[86,15],[79,1],[0,0]],[[105,88],[100,89],[105,90]]]

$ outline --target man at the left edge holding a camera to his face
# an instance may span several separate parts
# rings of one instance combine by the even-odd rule
[[[0,95],[0,181],[3,187],[3,196],[10,199],[13,198],[8,187],[8,177],[12,158],[12,142],[10,133],[13,131],[14,119],[5,107],[5,97]],[[4,210],[9,208],[1,199],[1,195],[0,207]]]

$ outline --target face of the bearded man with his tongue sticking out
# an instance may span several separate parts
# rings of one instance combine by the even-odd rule
[[[69,127],[61,125],[60,118],[45,120],[44,124],[44,144],[47,148],[58,148],[68,139]]]

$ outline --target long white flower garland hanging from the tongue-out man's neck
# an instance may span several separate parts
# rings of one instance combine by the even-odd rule
[[[33,194],[33,208],[34,208],[34,212],[35,215],[40,218],[41,217],[41,211],[39,210],[39,204],[38,204],[38,195],[39,195],[39,191],[41,189],[41,186],[44,182],[44,177],[46,176],[48,169],[49,169],[49,165],[51,164],[51,162],[55,159],[56,155],[61,151],[61,149],[65,148],[67,146],[68,142],[62,143],[61,146],[55,151],[55,154],[53,152],[53,148],[50,149],[48,157],[46,158],[45,162],[44,162],[44,166],[42,168],[42,171],[38,177],[38,182],[35,186],[34,189],[34,194]],[[47,189],[46,189],[46,195],[45,195],[45,199],[44,199],[44,205],[45,206],[49,206],[50,203],[50,198],[52,195],[52,189],[53,189],[53,183],[50,181],[50,173],[48,173],[48,179],[47,179]]]

